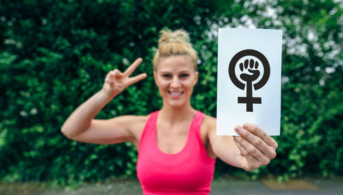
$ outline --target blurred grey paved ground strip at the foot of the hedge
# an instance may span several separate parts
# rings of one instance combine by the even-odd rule
[[[296,179],[277,183],[272,180],[239,181],[215,179],[211,195],[220,194],[343,194],[343,179]],[[137,195],[142,194],[138,181],[117,181],[107,184],[88,184],[76,190],[45,187],[40,184],[0,184],[0,194],[16,195]]]

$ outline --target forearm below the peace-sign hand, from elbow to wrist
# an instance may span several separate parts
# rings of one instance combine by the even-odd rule
[[[91,126],[92,119],[108,102],[109,100],[102,90],[95,93],[71,113],[61,128],[62,133],[69,138],[82,133]]]

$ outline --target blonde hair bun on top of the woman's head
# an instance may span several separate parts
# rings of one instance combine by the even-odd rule
[[[167,43],[182,43],[191,46],[189,34],[185,30],[175,30],[174,32],[169,29],[161,30],[158,46],[160,47]]]

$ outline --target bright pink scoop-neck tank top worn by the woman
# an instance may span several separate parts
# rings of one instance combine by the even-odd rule
[[[215,159],[200,137],[204,113],[196,112],[185,147],[176,154],[162,152],[156,141],[158,111],[151,113],[139,141],[137,176],[144,195],[209,194]]]

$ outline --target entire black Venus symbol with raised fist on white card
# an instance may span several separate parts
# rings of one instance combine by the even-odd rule
[[[252,97],[252,81],[257,80],[260,75],[260,71],[257,69],[259,67],[259,62],[255,62],[255,60],[253,59],[246,59],[244,63],[241,62],[239,64],[239,69],[241,70],[241,72],[243,72],[244,69],[247,69],[249,73],[252,73],[240,74],[239,78],[246,82],[246,84],[244,84],[238,80],[235,73],[235,67],[237,65],[237,62],[245,56],[254,56],[258,58],[263,65],[263,76],[261,80],[259,80],[259,82],[254,84],[255,91],[261,89],[261,87],[263,87],[268,81],[270,76],[270,65],[267,58],[265,58],[265,56],[261,54],[261,52],[254,49],[245,49],[239,51],[237,54],[235,54],[235,56],[233,56],[233,58],[230,60],[230,64],[228,65],[228,76],[230,77],[233,84],[235,84],[235,86],[241,90],[244,90],[244,88],[246,87],[246,97],[238,97],[238,103],[246,104],[246,111],[252,112],[252,104],[262,104],[261,98]]]

